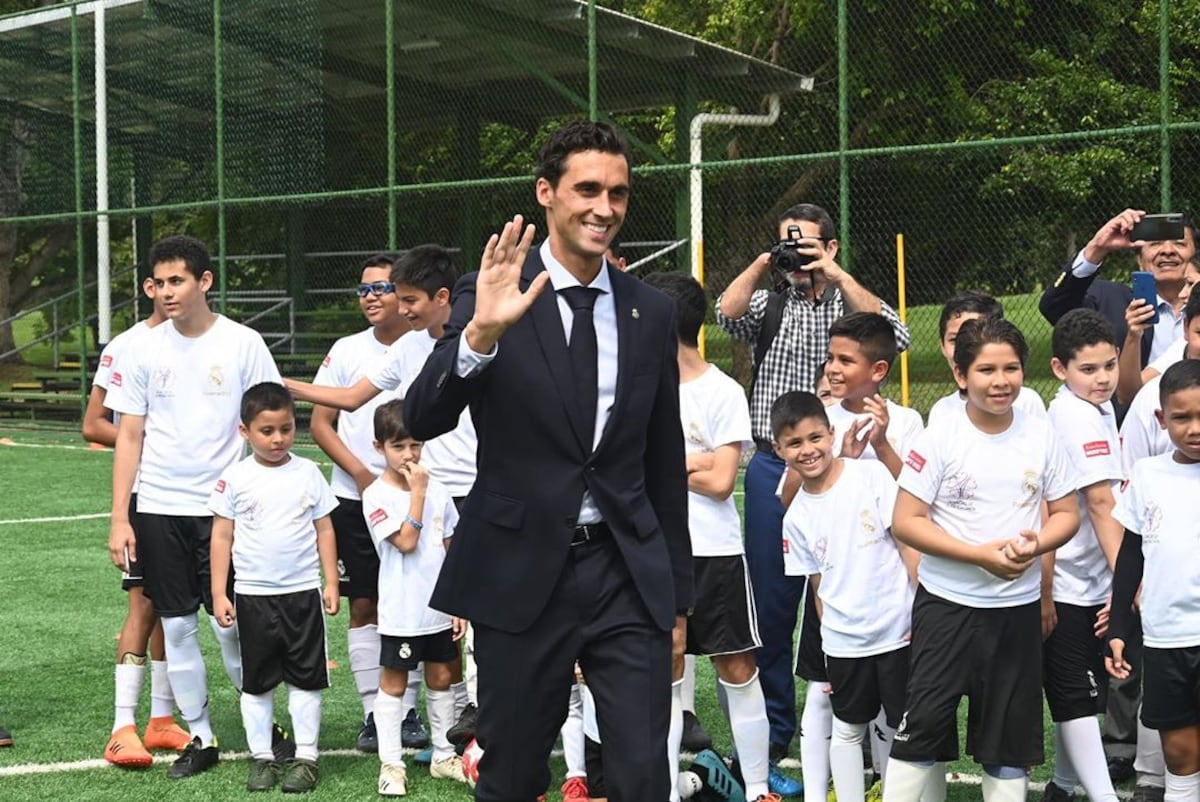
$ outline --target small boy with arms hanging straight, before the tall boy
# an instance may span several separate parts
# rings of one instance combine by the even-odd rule
[[[286,794],[317,786],[320,696],[329,687],[322,609],[336,616],[341,598],[329,520],[337,499],[317,463],[292,454],[295,425],[295,405],[282,384],[246,390],[239,431],[252,454],[223,471],[209,497],[212,615],[221,627],[238,622],[250,791],[270,790],[281,776]],[[236,604],[228,594],[230,563]],[[281,682],[296,743],[286,766],[271,749]]]

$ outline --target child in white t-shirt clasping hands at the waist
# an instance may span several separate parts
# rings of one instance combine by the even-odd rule
[[[1012,323],[964,323],[954,375],[966,405],[905,457],[892,532],[923,557],[884,802],[917,802],[934,761],[958,755],[962,695],[984,800],[1022,802],[1026,770],[1043,760],[1040,582],[1030,568],[1075,533],[1079,509],[1050,425],[1013,408],[1027,355]]]

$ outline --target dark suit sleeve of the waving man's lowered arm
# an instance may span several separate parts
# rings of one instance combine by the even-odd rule
[[[664,370],[650,412],[646,444],[646,486],[667,540],[674,576],[676,611],[692,606],[691,534],[688,531],[688,465],[679,423],[679,363],[674,315],[662,354]]]

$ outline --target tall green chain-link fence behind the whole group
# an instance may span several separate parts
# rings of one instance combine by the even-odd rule
[[[818,203],[892,304],[904,234],[913,406],[949,389],[937,305],[967,287],[1004,297],[1045,391],[1040,288],[1121,209],[1200,196],[1195,19],[1200,0],[109,0],[112,330],[136,261],[187,232],[223,307],[311,373],[361,325],[365,255],[439,241],[472,269],[512,214],[540,222],[533,157],[571,116],[635,144],[629,259],[691,269],[689,122],[778,95],[769,126],[703,128],[712,297],[779,211]],[[96,2],[0,18],[0,319],[72,287],[67,317],[96,313],[97,24]],[[708,349],[748,377],[715,327]]]

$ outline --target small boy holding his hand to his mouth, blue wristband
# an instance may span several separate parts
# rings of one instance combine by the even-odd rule
[[[466,783],[462,759],[446,740],[455,700],[450,668],[457,659],[466,622],[430,608],[438,573],[458,514],[450,492],[420,465],[421,443],[409,436],[400,400],[374,414],[376,448],[384,455],[383,475],[362,491],[362,514],[379,552],[379,784],[383,796],[404,796],[407,773],[401,752],[408,672],[425,663],[425,705],[430,716],[433,761],[430,774]]]

